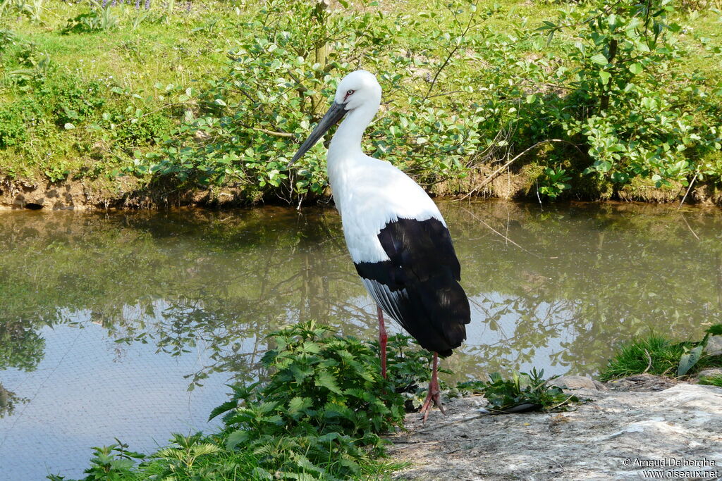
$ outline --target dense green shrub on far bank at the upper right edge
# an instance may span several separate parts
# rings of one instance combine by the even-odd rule
[[[713,115],[702,113],[719,105],[720,84],[682,68],[690,53],[679,43],[681,27],[669,21],[673,13],[670,0],[614,8],[593,2],[541,27],[549,40],[560,30],[578,40],[565,44],[569,67],[539,71],[539,80],[568,94],[528,100],[544,123],[583,141],[588,174],[619,186],[635,177],[658,186],[686,186],[695,175],[720,180],[722,172],[703,159],[719,154],[722,132]]]

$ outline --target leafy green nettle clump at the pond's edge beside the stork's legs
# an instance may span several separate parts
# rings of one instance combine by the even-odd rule
[[[404,420],[403,399],[381,378],[376,353],[313,321],[271,339],[277,347],[261,361],[269,378],[233,387],[232,400],[211,414],[225,414],[225,448],[259,456],[254,475],[263,479],[360,474],[381,450],[379,434]]]

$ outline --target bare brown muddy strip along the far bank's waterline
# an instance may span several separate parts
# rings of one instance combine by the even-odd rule
[[[487,166],[488,167],[488,166]],[[488,172],[487,172],[488,171]],[[479,169],[464,179],[448,180],[428,186],[432,195],[449,198],[537,199],[531,174],[525,169],[503,172],[489,177],[493,171]],[[622,190],[594,188],[580,190],[567,198],[573,200],[622,200],[650,203],[672,203],[682,200],[687,189],[680,186],[656,188],[653,185],[632,184]],[[327,203],[324,198],[305,198],[303,203]],[[548,201],[548,200],[547,200]],[[297,205],[282,189],[273,193],[258,193],[249,186],[188,187],[168,182],[147,184],[134,177],[107,179],[74,179],[59,182],[48,180],[14,180],[0,177],[0,209],[45,210],[105,210],[154,209],[181,206],[234,207],[257,203]],[[685,203],[722,206],[722,188],[697,182]]]

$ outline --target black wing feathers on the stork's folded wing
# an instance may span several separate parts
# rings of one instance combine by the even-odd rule
[[[448,230],[438,219],[399,219],[378,239],[389,260],[356,264],[370,294],[423,348],[451,355],[471,314]]]

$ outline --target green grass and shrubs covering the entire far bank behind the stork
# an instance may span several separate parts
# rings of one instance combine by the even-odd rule
[[[10,179],[318,198],[323,146],[284,166],[335,82],[364,68],[384,89],[365,149],[438,193],[494,193],[485,179],[509,161],[513,193],[548,198],[674,198],[721,181],[707,4],[1,5]]]

